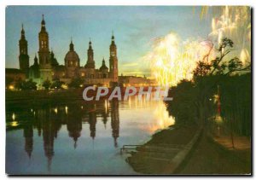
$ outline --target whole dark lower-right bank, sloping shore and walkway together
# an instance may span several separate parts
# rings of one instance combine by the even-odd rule
[[[186,148],[198,131],[196,125],[172,126],[152,136],[128,158],[135,171],[144,174],[249,174],[251,149],[225,148],[203,130],[182,162],[173,168],[173,159]],[[165,149],[161,148],[164,146]],[[158,148],[149,148],[158,147]]]

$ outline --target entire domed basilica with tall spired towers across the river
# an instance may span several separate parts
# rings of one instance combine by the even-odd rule
[[[69,44],[64,65],[59,65],[55,58],[54,52],[49,50],[49,35],[46,31],[45,20],[41,21],[41,31],[38,33],[38,55],[34,57],[32,66],[29,66],[29,55],[27,53],[27,41],[25,31],[22,26],[20,46],[20,70],[26,74],[26,78],[32,78],[37,82],[39,87],[45,80],[55,81],[60,80],[69,84],[73,78],[83,78],[84,84],[101,84],[109,86],[110,84],[118,83],[118,58],[117,47],[112,35],[111,44],[109,46],[109,68],[106,61],[102,60],[102,66],[96,69],[94,52],[91,41],[87,49],[87,61],[85,65],[80,64],[80,58],[75,51],[73,41]]]

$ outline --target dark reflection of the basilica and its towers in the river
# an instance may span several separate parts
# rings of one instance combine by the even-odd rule
[[[68,136],[73,138],[73,147],[77,148],[78,140],[81,136],[82,124],[89,124],[90,137],[96,138],[96,123],[102,119],[106,128],[108,118],[111,119],[111,136],[113,145],[118,147],[119,137],[119,102],[97,102],[86,105],[72,104],[71,106],[51,107],[34,110],[32,123],[22,125],[25,138],[25,151],[31,158],[33,150],[33,129],[38,131],[38,136],[43,136],[44,155],[48,160],[48,170],[50,171],[51,160],[55,154],[54,142],[61,130],[61,126],[67,125]]]

